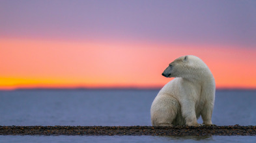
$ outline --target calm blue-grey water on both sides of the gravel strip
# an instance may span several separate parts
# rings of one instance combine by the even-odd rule
[[[27,89],[0,91],[0,126],[151,126],[159,90]],[[219,90],[212,122],[256,126],[255,90]],[[198,121],[202,122],[201,119]],[[0,136],[0,142],[256,142],[255,136]]]

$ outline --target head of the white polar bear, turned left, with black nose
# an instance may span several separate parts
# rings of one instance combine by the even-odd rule
[[[167,78],[193,78],[201,74],[205,67],[205,63],[197,56],[182,56],[171,62],[162,75]]]

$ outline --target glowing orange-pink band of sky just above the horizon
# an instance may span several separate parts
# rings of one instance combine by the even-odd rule
[[[220,45],[0,39],[0,89],[162,87],[167,65],[187,54],[210,68],[219,88],[256,88],[256,50]]]

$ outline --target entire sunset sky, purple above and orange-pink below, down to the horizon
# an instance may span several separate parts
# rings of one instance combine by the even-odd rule
[[[191,54],[256,89],[256,1],[0,1],[0,89],[162,87]]]

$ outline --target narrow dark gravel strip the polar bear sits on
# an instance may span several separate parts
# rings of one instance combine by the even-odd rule
[[[256,126],[0,126],[0,135],[256,135]]]

